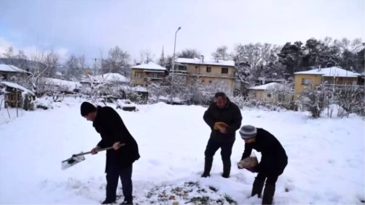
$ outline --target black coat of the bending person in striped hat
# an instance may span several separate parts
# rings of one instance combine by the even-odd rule
[[[257,128],[256,140],[253,143],[245,143],[245,151],[242,159],[251,155],[252,149],[261,152],[261,161],[254,168],[256,172],[280,175],[288,164],[288,156],[284,147],[270,132]]]

